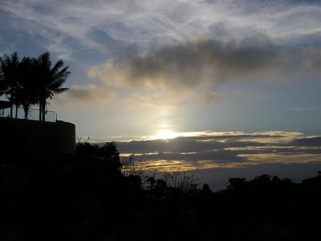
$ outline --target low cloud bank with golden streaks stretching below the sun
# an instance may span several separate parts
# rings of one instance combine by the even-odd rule
[[[159,170],[245,167],[264,163],[321,161],[321,137],[296,132],[199,132],[173,139],[117,142],[122,157],[154,160]],[[101,145],[101,144],[98,144]]]

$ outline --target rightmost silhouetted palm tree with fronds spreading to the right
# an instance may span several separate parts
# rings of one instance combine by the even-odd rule
[[[61,88],[61,86],[70,75],[68,71],[69,65],[62,68],[64,62],[59,60],[55,66],[51,68],[49,52],[41,54],[37,59],[33,59],[33,62],[36,82],[38,84],[39,121],[45,121],[47,99],[52,99],[54,94],[60,94],[68,90],[68,88]]]

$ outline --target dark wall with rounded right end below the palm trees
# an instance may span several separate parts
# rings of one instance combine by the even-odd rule
[[[14,140],[26,145],[29,153],[50,157],[76,152],[76,130],[72,123],[0,117],[0,131],[3,128],[12,129],[12,134],[7,135],[14,135]]]

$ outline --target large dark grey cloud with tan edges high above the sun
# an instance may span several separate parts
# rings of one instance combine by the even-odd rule
[[[281,46],[265,36],[240,42],[195,38],[153,52],[130,54],[92,67],[89,75],[107,85],[180,92],[222,82],[282,81],[320,74],[321,49]],[[184,91],[185,90],[185,91]]]

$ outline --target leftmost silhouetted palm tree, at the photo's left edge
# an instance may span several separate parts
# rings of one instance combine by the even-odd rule
[[[18,107],[20,106],[20,86],[19,79],[22,77],[19,72],[20,60],[17,52],[10,57],[5,54],[0,57],[0,96],[3,94],[10,95],[7,97],[16,105],[16,118],[18,115]],[[10,116],[13,117],[13,106],[11,106]]]

